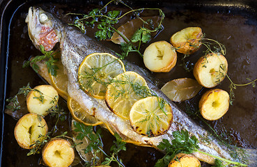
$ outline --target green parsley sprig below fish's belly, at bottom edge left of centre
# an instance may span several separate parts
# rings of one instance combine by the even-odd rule
[[[93,154],[97,154],[98,152],[102,152],[106,157],[105,161],[102,162],[102,165],[110,165],[111,162],[116,162],[118,166],[123,166],[122,160],[118,158],[118,153],[121,150],[126,150],[125,142],[122,141],[122,138],[118,136],[118,134],[114,134],[116,137],[116,141],[114,141],[114,145],[111,146],[111,155],[104,152],[102,137],[101,137],[101,129],[98,129],[95,133],[93,132],[92,126],[86,126],[80,122],[74,122],[75,132],[78,132],[77,139],[82,140],[84,137],[87,137],[90,140],[88,146],[84,149],[85,154],[88,152],[92,152]],[[93,158],[90,162],[86,163],[86,166],[95,166],[98,163],[97,156],[93,155]]]

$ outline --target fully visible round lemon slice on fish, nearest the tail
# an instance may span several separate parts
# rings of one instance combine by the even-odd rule
[[[130,110],[130,125],[135,132],[146,136],[165,134],[172,120],[171,106],[160,97],[151,96],[139,100]]]

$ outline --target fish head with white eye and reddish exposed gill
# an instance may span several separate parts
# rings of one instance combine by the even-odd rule
[[[42,45],[50,51],[61,39],[61,22],[38,7],[30,7],[25,22],[28,24],[29,38],[36,48]]]

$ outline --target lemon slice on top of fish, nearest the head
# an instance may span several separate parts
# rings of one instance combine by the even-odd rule
[[[79,66],[79,84],[93,97],[104,99],[111,79],[125,72],[123,62],[111,54],[94,53],[86,56]]]

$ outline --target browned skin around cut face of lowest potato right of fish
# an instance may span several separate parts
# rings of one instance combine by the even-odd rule
[[[203,110],[203,105],[205,103],[206,100],[208,100],[208,97],[210,96],[210,94],[214,93],[214,92],[220,92],[220,91],[224,91],[224,90],[221,90],[219,88],[215,88],[215,89],[211,89],[211,90],[208,90],[207,92],[205,92],[202,97],[201,97],[201,100],[199,101],[199,110],[201,112],[201,115],[203,116],[203,118],[205,118],[206,120],[218,120],[219,118],[221,118],[222,116],[224,116],[224,114],[228,111],[228,108],[227,109],[224,109],[224,114],[219,117],[219,118],[207,118],[207,116],[205,116],[205,112],[208,112],[208,111],[204,111]],[[229,104],[229,99],[228,99],[228,104]],[[229,105],[228,105],[229,106]]]

